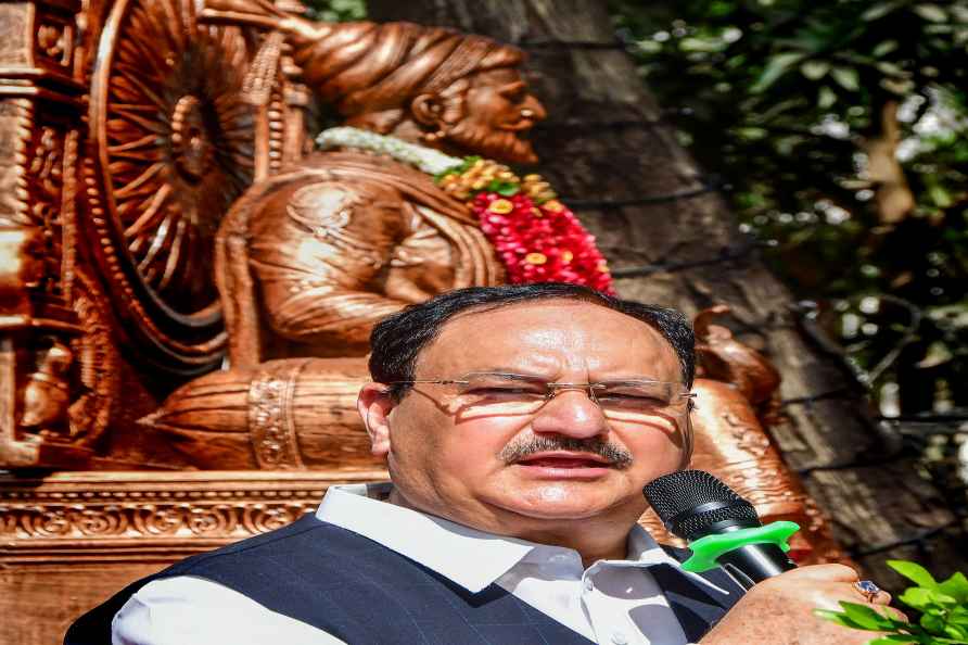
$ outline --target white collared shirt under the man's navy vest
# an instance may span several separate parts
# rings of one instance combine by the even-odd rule
[[[628,559],[587,569],[574,549],[484,533],[395,506],[391,484],[332,486],[316,517],[373,540],[472,593],[497,584],[600,645],[684,645],[686,637],[648,567],[670,557],[639,526]],[[373,496],[378,498],[373,498]],[[725,590],[683,571],[712,594]],[[216,582],[180,576],[139,590],[114,617],[113,645],[346,645]]]

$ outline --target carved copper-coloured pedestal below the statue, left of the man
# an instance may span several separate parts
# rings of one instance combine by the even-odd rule
[[[313,511],[380,470],[0,477],[0,643],[59,643],[75,618],[183,557]]]

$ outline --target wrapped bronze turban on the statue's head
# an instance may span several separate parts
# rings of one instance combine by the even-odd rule
[[[518,48],[484,36],[411,23],[333,25],[296,46],[303,79],[344,116],[399,108],[476,72],[520,65]]]

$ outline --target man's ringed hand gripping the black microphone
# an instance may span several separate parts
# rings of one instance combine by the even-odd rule
[[[814,609],[840,610],[840,600],[864,603],[853,587],[857,572],[843,565],[815,565],[764,580],[729,610],[701,645],[863,645],[878,632],[841,627],[814,616]],[[887,605],[880,592],[875,604]],[[896,609],[888,609],[906,620]]]

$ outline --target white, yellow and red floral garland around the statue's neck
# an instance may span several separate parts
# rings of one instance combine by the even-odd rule
[[[323,150],[357,148],[389,154],[434,175],[448,194],[468,204],[494,245],[511,283],[571,282],[614,293],[604,257],[587,230],[538,175],[519,178],[491,160],[448,156],[437,150],[351,127],[317,138]]]

